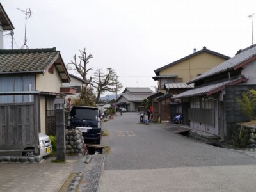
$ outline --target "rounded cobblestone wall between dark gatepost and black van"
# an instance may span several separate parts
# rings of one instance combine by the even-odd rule
[[[66,131],[66,154],[82,156],[88,154],[84,137],[79,129],[68,129]]]

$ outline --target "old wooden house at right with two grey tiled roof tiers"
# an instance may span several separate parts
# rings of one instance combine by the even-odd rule
[[[229,140],[234,124],[248,121],[237,102],[241,93],[256,88],[256,46],[188,81],[195,88],[172,97],[182,100],[183,124]]]

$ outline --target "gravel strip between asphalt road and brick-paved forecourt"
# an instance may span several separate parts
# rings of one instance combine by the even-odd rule
[[[79,192],[99,191],[99,184],[104,170],[105,159],[106,156],[104,154],[92,156],[90,163],[86,165],[84,177],[79,184]]]

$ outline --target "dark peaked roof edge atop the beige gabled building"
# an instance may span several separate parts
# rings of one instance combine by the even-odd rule
[[[164,70],[165,68],[171,67],[171,66],[173,66],[173,65],[175,65],[175,64],[177,64],[177,63],[180,63],[180,62],[182,62],[182,61],[184,61],[184,60],[188,60],[189,58],[192,58],[193,56],[196,56],[196,55],[198,55],[198,54],[201,54],[202,52],[208,52],[208,53],[210,53],[210,54],[214,54],[214,55],[216,55],[216,56],[219,56],[219,57],[221,57],[221,58],[224,58],[224,59],[226,59],[226,60],[228,60],[228,59],[230,58],[230,57],[225,56],[225,55],[223,55],[223,54],[220,54],[220,53],[218,53],[218,52],[211,51],[211,50],[207,49],[206,47],[203,47],[203,49],[201,49],[200,51],[196,51],[196,52],[194,52],[193,54],[189,54],[188,56],[186,56],[186,57],[184,57],[184,58],[181,58],[180,60],[174,61],[173,63],[170,63],[170,64],[168,64],[168,65],[164,65],[164,67],[157,68],[156,70],[154,70],[154,72],[155,72],[156,75],[159,75],[159,72],[160,72],[161,70]]]

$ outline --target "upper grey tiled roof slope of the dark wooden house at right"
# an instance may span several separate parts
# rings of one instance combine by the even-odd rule
[[[234,70],[235,67],[237,67],[239,64],[243,63],[246,60],[249,60],[253,56],[256,56],[256,46],[253,46],[251,49],[244,49],[246,51],[240,52],[233,58],[230,58],[227,61],[224,61],[220,65],[217,65],[214,68],[211,68],[207,72],[204,72],[204,74],[195,77],[195,79],[192,79],[191,81],[188,82],[190,83],[195,83],[196,81],[200,79],[204,79],[206,77],[214,76],[216,74],[220,74],[221,72],[228,71],[230,69]]]

